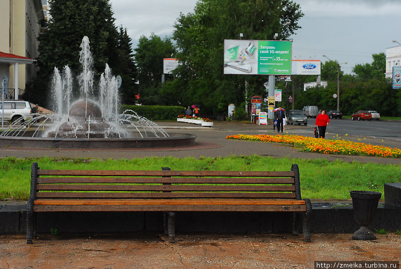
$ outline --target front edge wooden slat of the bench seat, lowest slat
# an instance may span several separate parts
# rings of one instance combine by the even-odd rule
[[[254,211],[302,212],[306,205],[34,205],[36,212],[59,211]]]

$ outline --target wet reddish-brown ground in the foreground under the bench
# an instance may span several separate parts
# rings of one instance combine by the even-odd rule
[[[401,235],[375,241],[351,234],[186,234],[170,243],[161,234],[0,236],[0,268],[313,268],[314,261],[399,261]]]

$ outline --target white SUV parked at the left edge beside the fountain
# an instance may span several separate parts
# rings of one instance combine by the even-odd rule
[[[24,122],[32,118],[31,104],[27,101],[4,101],[4,121]],[[3,102],[0,100],[0,121],[3,118]]]

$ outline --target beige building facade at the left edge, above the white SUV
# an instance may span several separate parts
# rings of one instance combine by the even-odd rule
[[[38,36],[44,12],[41,0],[0,0],[0,52],[17,57],[38,57]],[[25,92],[26,84],[36,77],[36,66],[30,61],[21,63],[0,59],[0,77],[9,78],[8,88],[15,99]],[[33,61],[31,61],[32,63]]]

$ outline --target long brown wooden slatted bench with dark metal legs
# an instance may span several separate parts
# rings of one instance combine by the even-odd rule
[[[175,237],[176,211],[294,212],[293,232],[303,216],[310,241],[309,199],[301,199],[298,165],[291,171],[43,170],[32,164],[27,243],[36,212],[163,211],[164,229]]]

